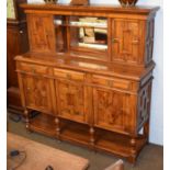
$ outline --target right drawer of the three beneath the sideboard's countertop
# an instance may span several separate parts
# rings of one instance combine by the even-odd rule
[[[104,86],[109,88],[117,88],[117,89],[125,89],[125,90],[131,90],[132,88],[131,81],[122,80],[122,79],[112,79],[112,78],[102,77],[102,76],[93,76],[92,82],[95,84]]]

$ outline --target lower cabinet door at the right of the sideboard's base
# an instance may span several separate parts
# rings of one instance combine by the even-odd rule
[[[113,132],[134,131],[135,107],[133,107],[129,94],[95,88],[93,89],[93,103],[95,126]]]

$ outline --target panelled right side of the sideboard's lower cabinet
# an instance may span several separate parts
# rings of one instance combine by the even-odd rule
[[[138,95],[138,129],[149,118],[150,114],[150,94],[151,94],[151,81],[148,82],[139,92]]]

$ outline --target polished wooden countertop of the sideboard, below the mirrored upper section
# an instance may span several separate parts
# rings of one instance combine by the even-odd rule
[[[42,59],[43,58],[43,59]],[[47,59],[48,58],[48,59]],[[123,79],[129,79],[134,81],[140,81],[146,75],[152,71],[155,67],[155,63],[150,63],[150,65],[146,69],[141,69],[139,67],[131,67],[131,66],[122,66],[118,64],[109,64],[103,61],[97,61],[91,59],[82,59],[82,58],[73,58],[67,56],[56,56],[46,54],[34,54],[26,53],[24,55],[19,55],[15,57],[15,60],[44,65],[48,67],[58,67],[64,69],[77,70],[77,71],[86,71],[90,73],[103,75],[117,77]]]

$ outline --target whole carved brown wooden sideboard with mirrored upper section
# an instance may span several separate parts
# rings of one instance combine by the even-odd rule
[[[159,8],[21,7],[31,48],[15,57],[26,128],[135,162],[149,135]]]

